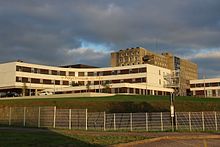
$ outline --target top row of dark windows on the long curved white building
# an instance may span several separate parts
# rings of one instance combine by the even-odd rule
[[[60,75],[60,76],[75,76],[75,72],[56,71],[48,69],[31,68],[24,66],[16,66],[16,71],[48,74],[48,75]],[[88,72],[88,76],[108,76],[108,75],[119,75],[119,74],[131,74],[131,73],[144,73],[147,72],[147,68],[133,68],[113,71],[102,71],[102,72]],[[78,76],[85,76],[85,72],[78,72]]]

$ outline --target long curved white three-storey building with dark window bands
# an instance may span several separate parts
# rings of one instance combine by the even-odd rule
[[[169,95],[164,76],[171,70],[150,65],[106,68],[65,68],[20,61],[0,64],[0,92],[37,95],[55,93],[109,92],[141,95]]]

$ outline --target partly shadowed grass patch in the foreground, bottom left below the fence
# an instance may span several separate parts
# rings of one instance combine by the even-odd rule
[[[102,147],[118,143],[143,140],[147,137],[138,135],[103,134],[99,132],[78,133],[66,130],[10,129],[0,130],[0,146],[74,146]]]

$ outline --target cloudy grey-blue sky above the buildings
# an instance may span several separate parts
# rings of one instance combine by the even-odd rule
[[[110,66],[144,47],[220,77],[219,0],[0,0],[0,62]]]

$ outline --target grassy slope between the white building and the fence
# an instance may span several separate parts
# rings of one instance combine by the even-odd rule
[[[98,98],[55,98],[3,100],[4,106],[57,106],[57,108],[85,109],[90,112],[156,112],[169,111],[168,96],[128,96],[116,95]],[[220,99],[176,97],[176,111],[220,111]]]

